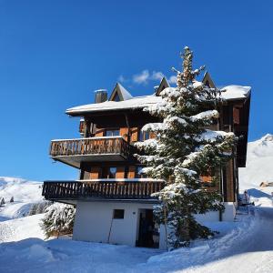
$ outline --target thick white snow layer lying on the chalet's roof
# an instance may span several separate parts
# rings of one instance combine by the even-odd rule
[[[121,86],[122,87],[122,86]],[[248,97],[251,87],[249,86],[226,86],[222,88],[225,92],[222,93],[223,98],[227,100],[243,99]],[[132,97],[124,88],[126,92],[126,100],[124,101],[106,101],[99,104],[90,104],[85,106],[76,106],[66,110],[66,114],[71,116],[84,115],[86,113],[127,110],[144,108],[152,104],[156,104],[162,100],[161,96],[135,96]],[[131,97],[129,97],[129,96]]]

